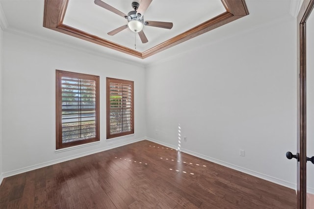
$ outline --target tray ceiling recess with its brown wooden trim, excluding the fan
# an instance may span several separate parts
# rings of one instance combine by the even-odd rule
[[[132,0],[103,0],[123,13],[132,11]],[[93,0],[45,0],[44,26],[139,58],[146,58],[223,24],[248,15],[244,0],[153,0],[145,21],[172,22],[172,29],[145,26],[148,43],[141,43],[129,28],[114,36],[107,32],[127,20]],[[140,2],[139,2],[140,3]],[[136,49],[135,49],[136,43]]]

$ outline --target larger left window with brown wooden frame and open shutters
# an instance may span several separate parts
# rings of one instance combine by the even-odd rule
[[[99,139],[99,76],[56,70],[56,149]]]

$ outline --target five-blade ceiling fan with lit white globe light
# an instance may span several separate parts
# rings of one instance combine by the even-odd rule
[[[117,15],[120,15],[121,17],[125,18],[128,20],[128,24],[123,25],[121,27],[118,27],[107,34],[110,36],[113,36],[120,31],[130,28],[131,31],[138,33],[142,43],[147,43],[148,39],[145,36],[145,33],[143,32],[143,26],[153,26],[153,27],[161,27],[161,28],[167,28],[171,29],[173,26],[173,23],[169,22],[158,22],[158,21],[144,21],[144,13],[148,6],[151,4],[152,0],[141,0],[140,4],[136,1],[132,2],[132,8],[134,11],[131,11],[128,13],[128,15],[124,14],[123,12],[117,10],[116,8],[110,6],[109,4],[105,3],[102,0],[95,0],[94,3],[98,6],[101,6]]]

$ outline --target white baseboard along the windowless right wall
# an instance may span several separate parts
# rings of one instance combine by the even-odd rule
[[[165,143],[163,141],[156,140],[156,139],[146,138],[146,140],[149,140],[149,141],[152,141],[152,142],[155,142],[155,143],[167,146],[167,147],[171,147],[173,149],[178,149],[178,147],[176,147],[175,145],[168,144],[168,143]],[[247,168],[243,168],[243,167],[237,166],[235,164],[231,164],[231,163],[227,163],[227,162],[224,162],[224,161],[220,161],[220,160],[217,160],[215,158],[211,158],[209,156],[206,156],[206,155],[203,155],[203,154],[200,154],[200,153],[196,153],[196,152],[193,152],[193,151],[190,151],[190,150],[187,150],[187,149],[181,148],[180,150],[182,152],[186,153],[186,154],[189,154],[189,155],[192,155],[192,156],[195,156],[195,157],[207,160],[207,161],[212,162],[212,163],[217,163],[217,164],[223,165],[225,167],[232,168],[234,170],[240,171],[242,173],[249,174],[251,176],[258,177],[260,179],[266,180],[268,182],[275,183],[277,185],[286,186],[286,187],[294,189],[294,190],[296,188],[296,184],[293,184],[293,183],[290,183],[290,182],[287,182],[287,181],[284,181],[284,180],[281,180],[281,179],[277,179],[277,178],[272,177],[272,176],[268,176],[268,175],[265,175],[265,174],[262,174],[262,173],[259,173],[259,172],[247,169]],[[314,194],[314,188],[307,187],[307,192],[310,193],[310,194]]]

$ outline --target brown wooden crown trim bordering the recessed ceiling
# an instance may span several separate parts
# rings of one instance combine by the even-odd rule
[[[144,52],[133,50],[129,47],[110,42],[98,36],[86,33],[84,31],[78,30],[77,28],[63,24],[64,15],[66,13],[69,0],[45,0],[43,26],[52,30],[59,31],[61,33],[65,33],[83,39],[85,41],[89,41],[101,46],[115,49],[130,54],[132,56],[144,59],[160,51],[163,51],[172,46],[176,46],[189,39],[192,39],[196,36],[206,33],[214,28],[220,27],[221,25],[230,23],[234,20],[237,20],[249,14],[245,0],[221,0],[221,1],[224,7],[226,8],[226,12],[204,23],[201,23]]]

